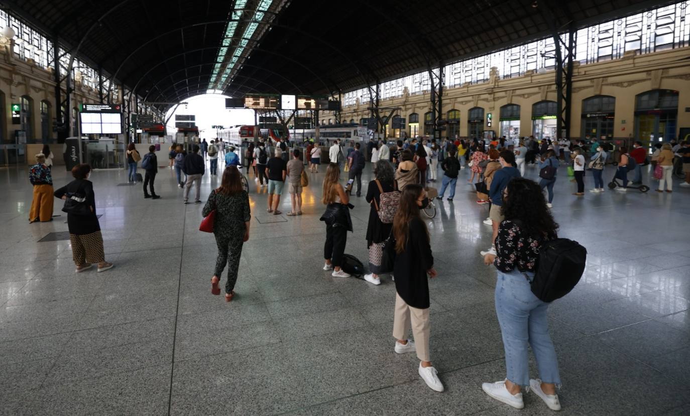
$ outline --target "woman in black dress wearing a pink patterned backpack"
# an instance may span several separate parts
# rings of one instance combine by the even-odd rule
[[[381,259],[383,257],[384,241],[391,235],[393,223],[384,223],[380,217],[381,195],[386,192],[397,190],[395,184],[395,170],[393,165],[387,160],[377,161],[374,166],[374,176],[376,179],[369,182],[366,190],[366,201],[371,205],[369,208],[369,222],[366,225],[366,246],[369,249],[369,273],[364,275],[364,280],[371,284],[379,285],[379,273],[381,270]],[[387,212],[384,212],[384,216]]]

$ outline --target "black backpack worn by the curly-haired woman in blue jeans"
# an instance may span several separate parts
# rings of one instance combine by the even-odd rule
[[[580,281],[586,258],[586,248],[577,241],[557,238],[542,242],[532,293],[544,302],[564,297]]]

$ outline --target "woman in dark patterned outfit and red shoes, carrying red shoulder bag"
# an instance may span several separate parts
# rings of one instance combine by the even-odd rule
[[[251,211],[249,195],[242,188],[242,179],[237,166],[228,166],[223,172],[219,188],[211,191],[201,215],[206,217],[215,210],[213,235],[218,246],[215,273],[211,278],[211,293],[220,295],[218,286],[225,264],[228,264],[228,281],[225,284],[225,300],[232,301],[235,296],[239,257],[242,244],[249,239]]]

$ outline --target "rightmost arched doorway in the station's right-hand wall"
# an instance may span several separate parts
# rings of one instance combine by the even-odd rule
[[[651,90],[635,96],[635,137],[640,141],[669,141],[676,137],[678,91]]]

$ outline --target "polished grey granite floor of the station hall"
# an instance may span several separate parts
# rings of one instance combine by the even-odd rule
[[[323,173],[312,175],[302,217],[268,215],[266,191],[253,186],[251,239],[226,304],[209,293],[216,249],[198,231],[201,206],[181,203],[172,171],[159,172],[157,201],[118,186],[124,170],[93,173],[116,267],[75,275],[69,241],[38,242],[67,230],[64,215],[28,224],[25,171],[0,169],[0,414],[551,413],[533,393],[515,410],[482,392],[482,382],[504,377],[504,352],[495,270],[478,255],[489,246],[488,207],[475,204],[467,173],[455,201],[428,221],[439,272],[431,355],[446,386],[435,393],[414,355],[393,353],[393,282],[321,270]],[[68,181],[66,172],[54,177]],[[205,176],[202,199],[218,183]],[[560,234],[589,250],[580,284],[549,308],[564,415],[690,414],[690,190],[674,186],[578,199],[575,184],[558,178]],[[346,252],[366,262],[368,206],[353,202]]]

